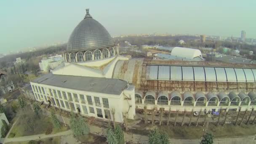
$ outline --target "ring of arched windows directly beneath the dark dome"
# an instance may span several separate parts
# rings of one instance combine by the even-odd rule
[[[94,51],[85,51],[85,52],[72,52],[65,53],[66,62],[84,62],[84,61],[93,61],[100,59],[107,59],[118,54],[118,47],[104,48],[102,50],[96,49]]]

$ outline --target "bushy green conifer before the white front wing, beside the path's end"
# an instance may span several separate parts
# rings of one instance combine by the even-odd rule
[[[83,117],[79,116],[78,118],[76,118],[73,112],[71,112],[70,117],[70,128],[72,129],[73,134],[76,138],[79,136],[86,136],[90,132],[88,124],[85,122]]]

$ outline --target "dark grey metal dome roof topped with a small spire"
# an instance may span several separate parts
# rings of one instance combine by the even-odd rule
[[[75,27],[67,43],[67,51],[86,51],[114,46],[109,32],[94,20],[86,9],[85,18]]]

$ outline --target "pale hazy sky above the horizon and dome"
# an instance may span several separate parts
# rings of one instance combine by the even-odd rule
[[[256,0],[0,0],[0,53],[67,42],[85,8],[112,36],[256,37]]]

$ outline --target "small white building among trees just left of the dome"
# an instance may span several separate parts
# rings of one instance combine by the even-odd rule
[[[39,67],[41,71],[47,72],[58,67],[63,61],[64,58],[62,55],[51,56],[48,58],[43,58],[39,63]]]

